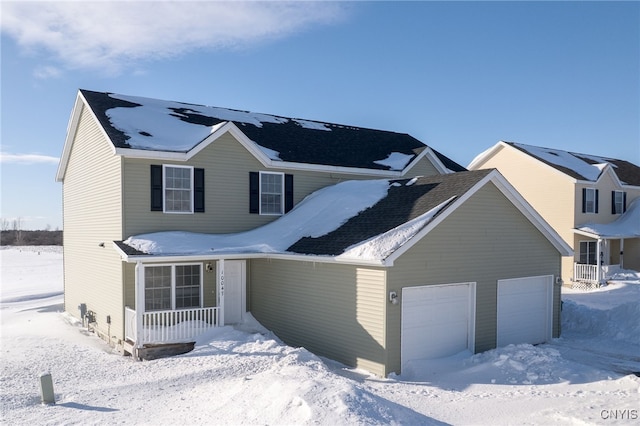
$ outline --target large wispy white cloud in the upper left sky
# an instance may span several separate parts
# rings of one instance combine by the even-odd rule
[[[2,3],[1,22],[22,48],[46,51],[67,68],[117,73],[135,61],[285,37],[336,22],[346,7],[306,1],[16,1]]]

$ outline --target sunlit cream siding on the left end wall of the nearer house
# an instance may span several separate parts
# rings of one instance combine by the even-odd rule
[[[116,343],[124,333],[123,273],[112,246],[122,237],[120,164],[83,108],[63,180],[65,310],[79,318],[86,303],[97,331]]]

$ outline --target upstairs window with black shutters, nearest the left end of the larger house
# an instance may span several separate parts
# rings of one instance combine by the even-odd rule
[[[152,164],[151,210],[165,213],[203,213],[204,169]]]

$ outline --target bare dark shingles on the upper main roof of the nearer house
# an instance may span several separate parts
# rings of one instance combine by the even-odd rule
[[[80,90],[89,106],[95,113],[100,124],[106,131],[112,143],[117,148],[131,148],[128,139],[129,135],[116,129],[109,120],[106,112],[112,108],[124,107],[135,108],[140,104],[117,99],[110,96],[110,93],[94,92],[90,90]],[[143,99],[143,98],[140,98]],[[182,121],[214,126],[224,120],[215,116],[199,114],[194,109],[212,111],[215,109],[227,112],[239,112],[224,108],[204,107],[202,105],[167,102],[167,109],[171,114],[158,115],[158,120],[180,119]],[[184,105],[177,107],[176,105]],[[263,121],[260,127],[240,121],[233,123],[253,142],[261,147],[268,148],[279,153],[282,161],[328,165],[338,167],[368,168],[377,170],[389,170],[387,165],[377,164],[376,161],[384,160],[392,153],[402,153],[415,159],[426,145],[405,133],[396,133],[384,130],[374,130],[345,126],[332,123],[320,123],[305,120],[309,123],[321,125],[325,130],[313,128],[313,126],[302,126],[298,119],[287,117],[271,116],[279,119],[277,123]],[[330,131],[326,130],[330,129]],[[144,130],[140,131],[144,135]],[[184,144],[185,141],[180,141]],[[197,145],[200,141],[194,141]],[[167,150],[169,150],[167,148]],[[176,150],[181,152],[180,150]],[[433,150],[440,161],[452,171],[466,170],[448,157]]]

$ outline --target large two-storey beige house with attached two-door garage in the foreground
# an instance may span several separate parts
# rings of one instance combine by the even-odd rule
[[[559,335],[569,247],[406,134],[81,90],[57,179],[65,310],[136,356],[247,312],[380,375]]]

